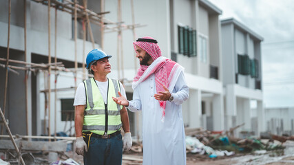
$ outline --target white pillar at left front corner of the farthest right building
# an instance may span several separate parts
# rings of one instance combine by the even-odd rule
[[[237,114],[237,103],[235,97],[235,91],[233,85],[227,85],[226,87],[226,117],[227,117],[227,128],[233,127],[233,116]]]

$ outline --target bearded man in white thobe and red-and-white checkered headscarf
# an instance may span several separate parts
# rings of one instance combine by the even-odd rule
[[[142,110],[143,164],[186,164],[181,104],[189,98],[184,68],[161,56],[157,41],[143,37],[133,43],[140,68],[134,78],[133,100],[113,98],[130,111]]]

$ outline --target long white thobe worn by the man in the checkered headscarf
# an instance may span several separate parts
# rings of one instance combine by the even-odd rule
[[[135,89],[130,111],[143,114],[143,165],[186,164],[185,129],[182,120],[182,102],[189,98],[189,87],[180,72],[174,89],[169,89],[174,101],[167,101],[165,122],[156,94],[155,76],[151,74]]]

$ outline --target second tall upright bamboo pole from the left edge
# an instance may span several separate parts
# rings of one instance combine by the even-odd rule
[[[23,17],[24,17],[24,37],[25,37],[25,62],[27,62],[27,1],[23,0]],[[26,65],[25,65],[26,67]],[[29,134],[28,126],[28,72],[25,72],[25,122],[27,135]]]

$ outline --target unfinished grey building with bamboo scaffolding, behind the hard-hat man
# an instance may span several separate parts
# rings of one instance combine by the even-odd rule
[[[113,3],[118,17],[109,20],[105,1],[1,1],[1,138],[52,139],[60,132],[75,136],[73,96],[78,83],[91,76],[85,69],[87,52],[103,50],[105,33],[114,33],[112,42],[123,45],[122,31],[134,33],[140,27],[126,25],[119,14],[120,0]],[[128,3],[134,7],[133,1]],[[114,58],[123,58],[123,47],[114,49]]]

